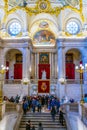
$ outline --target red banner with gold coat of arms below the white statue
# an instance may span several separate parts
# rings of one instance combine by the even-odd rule
[[[49,93],[49,92],[50,92],[50,80],[39,80],[38,93]]]

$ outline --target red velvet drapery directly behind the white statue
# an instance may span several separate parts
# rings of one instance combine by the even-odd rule
[[[39,79],[42,78],[42,71],[46,71],[46,79],[50,79],[50,64],[39,64],[38,65],[38,74]]]

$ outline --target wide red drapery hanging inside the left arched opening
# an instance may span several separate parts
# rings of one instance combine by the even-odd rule
[[[14,79],[22,79],[22,64],[14,64]]]

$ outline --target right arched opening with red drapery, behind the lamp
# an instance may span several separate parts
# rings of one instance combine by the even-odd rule
[[[79,65],[82,62],[82,56],[78,49],[70,49],[65,55],[66,63],[66,78],[77,79],[79,75],[75,72],[75,65]]]

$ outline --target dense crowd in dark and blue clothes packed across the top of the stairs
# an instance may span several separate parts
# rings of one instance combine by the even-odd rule
[[[58,113],[59,107],[60,107],[60,101],[57,97],[54,96],[30,96],[30,97],[23,97],[23,111],[24,114],[26,114],[27,110],[31,110],[35,112],[36,110],[38,112],[41,112],[43,106],[45,106],[49,111],[52,107],[56,108],[56,112]]]

